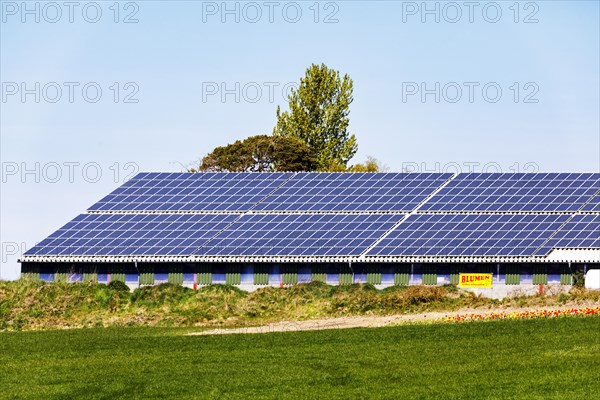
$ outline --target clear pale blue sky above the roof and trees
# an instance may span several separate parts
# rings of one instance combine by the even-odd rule
[[[311,63],[354,80],[356,162],[600,169],[598,1],[75,3],[1,3],[3,279],[129,173],[270,133]]]

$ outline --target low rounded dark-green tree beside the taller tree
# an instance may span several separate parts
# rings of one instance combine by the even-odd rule
[[[202,159],[198,170],[212,172],[313,171],[311,149],[296,138],[250,136],[215,148]],[[190,169],[190,172],[198,172]]]

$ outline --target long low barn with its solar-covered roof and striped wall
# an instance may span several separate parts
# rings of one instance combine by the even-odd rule
[[[134,287],[570,285],[600,268],[600,174],[140,173],[20,262]]]

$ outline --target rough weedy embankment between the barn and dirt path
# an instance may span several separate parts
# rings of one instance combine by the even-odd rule
[[[117,285],[118,286],[118,285]],[[371,285],[265,287],[247,293],[213,285],[163,284],[130,293],[95,283],[0,282],[0,331],[108,326],[248,326],[282,320],[509,306],[600,304],[600,291],[493,300],[454,286],[377,290]]]

